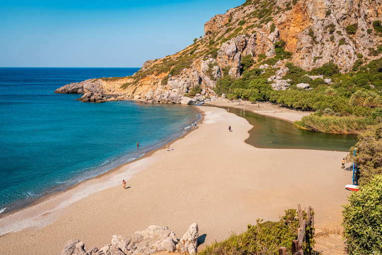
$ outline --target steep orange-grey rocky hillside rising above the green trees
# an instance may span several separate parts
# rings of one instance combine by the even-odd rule
[[[196,96],[213,100],[217,79],[240,78],[244,56],[256,67],[265,57],[274,58],[281,40],[292,53],[280,59],[281,68],[286,61],[305,70],[333,62],[347,72],[357,53],[368,56],[379,44],[373,22],[381,13],[382,0],[247,0],[207,21],[204,36],[186,49],[146,61],[131,77],[98,83],[118,99],[180,103],[199,85],[203,95]],[[375,58],[369,56],[369,61]]]

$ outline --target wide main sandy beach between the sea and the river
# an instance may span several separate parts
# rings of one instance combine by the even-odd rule
[[[297,203],[314,208],[316,226],[340,227],[352,178],[341,169],[346,152],[255,148],[244,142],[252,128],[245,119],[198,108],[202,123],[174,141],[174,150],[161,148],[0,218],[0,254],[57,255],[70,239],[101,248],[112,235],[150,225],[181,238],[193,222],[200,249],[258,218],[277,221]]]

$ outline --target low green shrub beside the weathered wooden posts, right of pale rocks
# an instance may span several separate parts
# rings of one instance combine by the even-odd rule
[[[306,215],[304,217],[306,219]],[[239,235],[232,234],[222,242],[214,242],[198,255],[263,255],[279,254],[284,246],[291,254],[292,240],[297,239],[298,213],[295,209],[285,211],[279,222],[261,222],[248,225],[248,230]],[[304,254],[311,254],[314,245],[313,229],[306,228],[311,243],[304,244]]]

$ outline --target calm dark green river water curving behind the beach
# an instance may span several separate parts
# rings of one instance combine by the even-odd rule
[[[251,111],[236,108],[229,111],[245,118],[253,126],[245,142],[257,148],[349,151],[357,143],[356,134],[316,132]]]

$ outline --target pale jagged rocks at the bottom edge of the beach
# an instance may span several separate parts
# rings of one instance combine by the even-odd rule
[[[128,237],[114,235],[111,244],[100,250],[96,247],[88,250],[83,242],[72,239],[68,241],[61,255],[151,255],[161,251],[194,255],[197,252],[198,237],[196,223],[190,226],[181,240],[168,227],[150,226]]]

